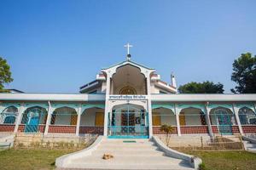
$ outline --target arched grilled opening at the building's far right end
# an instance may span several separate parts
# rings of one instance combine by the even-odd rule
[[[241,122],[241,125],[250,125],[256,124],[256,114],[254,113],[253,110],[247,108],[247,107],[242,107],[238,111],[239,119]]]

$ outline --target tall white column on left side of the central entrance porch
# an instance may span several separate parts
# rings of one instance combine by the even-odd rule
[[[106,100],[105,100],[105,115],[104,115],[104,136],[108,136],[108,99],[110,91],[110,74],[107,75],[106,84]]]

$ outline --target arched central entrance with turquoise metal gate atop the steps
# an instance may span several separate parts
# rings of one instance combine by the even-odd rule
[[[108,122],[108,138],[148,138],[148,113],[136,105],[117,107]]]

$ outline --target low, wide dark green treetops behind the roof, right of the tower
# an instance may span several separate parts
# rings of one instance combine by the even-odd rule
[[[189,82],[178,88],[180,94],[223,94],[224,86],[220,82]]]

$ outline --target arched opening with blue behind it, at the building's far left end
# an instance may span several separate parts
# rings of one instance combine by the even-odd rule
[[[18,109],[15,106],[9,106],[1,113],[1,123],[15,124]]]

